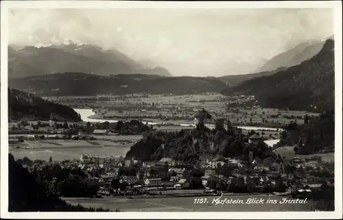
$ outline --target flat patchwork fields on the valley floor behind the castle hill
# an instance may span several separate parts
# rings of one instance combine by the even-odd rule
[[[244,124],[250,119],[253,123],[261,123],[263,119],[274,121],[274,123],[289,123],[295,119],[286,119],[285,117],[303,117],[308,112],[300,111],[285,111],[270,108],[253,108],[244,109],[237,108],[239,112],[228,112],[226,110],[225,100],[227,97],[209,93],[202,95],[181,95],[181,96],[163,96],[150,95],[149,97],[138,97],[127,95],[119,96],[103,96],[106,101],[98,99],[98,97],[48,97],[47,99],[58,101],[72,108],[93,108],[98,109],[93,115],[95,119],[104,119],[112,117],[113,120],[134,119],[141,117],[143,121],[152,121],[154,123],[189,123],[193,121],[193,114],[200,108],[205,108],[214,117],[227,117],[230,121]],[[88,101],[92,99],[92,101]],[[154,103],[154,107],[152,107]],[[113,108],[115,106],[115,108]],[[248,106],[252,107],[252,106]],[[180,111],[177,110],[187,111]],[[279,114],[278,117],[275,117]],[[183,119],[175,119],[175,121],[163,121],[162,117],[171,119],[172,117],[183,117]],[[152,119],[154,118],[154,119]],[[298,119],[297,123],[303,123],[302,119]]]

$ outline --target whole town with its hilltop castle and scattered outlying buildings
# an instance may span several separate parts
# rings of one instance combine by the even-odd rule
[[[199,110],[194,117],[197,127],[204,125],[206,129],[228,127],[237,134],[241,129],[231,126],[226,119],[212,119],[206,110]],[[68,125],[60,125],[69,128]],[[77,127],[77,125],[74,125]],[[86,125],[90,126],[89,124]],[[107,125],[108,127],[109,125]],[[73,126],[71,126],[73,127]],[[146,127],[147,130],[150,127]],[[198,128],[195,128],[197,130]],[[65,132],[65,130],[64,130]],[[108,130],[93,128],[92,134],[106,138]],[[71,135],[72,140],[86,140],[86,133]],[[117,135],[116,133],[114,133]],[[263,138],[256,132],[250,132],[245,145],[255,147],[265,145]],[[65,135],[64,135],[65,136]],[[25,140],[39,139],[39,136],[25,136]],[[49,135],[47,138],[57,138]],[[89,138],[89,136],[88,136]],[[147,136],[143,137],[147,138]],[[91,138],[90,140],[95,140]],[[16,136],[10,141],[18,141]],[[135,141],[134,143],[136,143]],[[15,143],[12,143],[15,145]],[[206,145],[206,144],[205,144]],[[173,148],[172,141],[161,143],[162,149]],[[189,148],[191,146],[188,146]],[[208,146],[204,146],[205,148]],[[194,148],[194,146],[193,146]],[[261,148],[262,149],[262,148]],[[193,149],[196,150],[197,149]],[[84,188],[84,192],[71,190],[72,186],[66,180],[64,184],[53,184],[49,190],[60,197],[180,197],[198,195],[219,195],[220,193],[274,193],[276,195],[293,197],[311,197],[311,193],[318,196],[318,192],[333,192],[333,163],[322,161],[320,156],[285,158],[285,156],[267,156],[259,158],[254,151],[248,151],[248,157],[224,157],[206,154],[200,149],[202,159],[196,164],[185,160],[175,160],[163,157],[161,160],[142,160],[133,157],[114,157],[105,155],[82,155],[71,160],[49,161],[19,159],[29,171],[52,172],[49,176],[56,182],[60,172],[78,171],[87,187],[93,187],[92,193]],[[48,168],[49,167],[49,168]],[[56,168],[58,167],[58,169]],[[53,171],[51,171],[53,170]],[[57,170],[57,171],[56,171]],[[75,172],[74,172],[75,173]],[[67,178],[68,180],[68,178]],[[320,193],[320,195],[324,195]]]

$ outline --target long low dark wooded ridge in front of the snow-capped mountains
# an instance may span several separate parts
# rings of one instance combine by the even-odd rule
[[[111,75],[55,73],[9,79],[8,85],[44,96],[150,93],[184,95],[215,93],[226,84],[215,77],[163,77],[160,75]]]

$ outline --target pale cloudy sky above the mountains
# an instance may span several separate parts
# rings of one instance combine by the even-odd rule
[[[254,73],[273,56],[332,34],[329,8],[15,9],[8,29],[12,45],[71,39],[201,77]]]

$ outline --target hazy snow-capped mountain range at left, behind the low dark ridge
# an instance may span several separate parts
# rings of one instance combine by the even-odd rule
[[[132,73],[171,76],[163,67],[146,69],[115,49],[104,50],[95,45],[69,42],[39,48],[8,47],[8,78],[64,72],[107,76]]]

